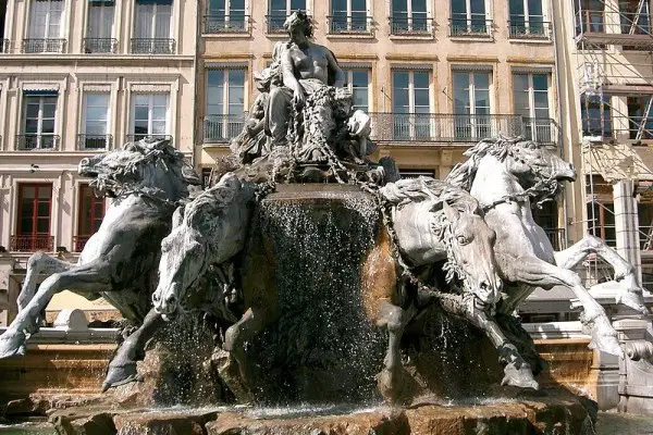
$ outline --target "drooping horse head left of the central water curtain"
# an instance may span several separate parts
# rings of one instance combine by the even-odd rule
[[[254,188],[233,173],[173,215],[173,229],[161,243],[155,310],[173,319],[198,289],[211,264],[235,256],[245,243]]]

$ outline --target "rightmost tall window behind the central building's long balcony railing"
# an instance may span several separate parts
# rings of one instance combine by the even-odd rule
[[[515,114],[523,116],[526,136],[543,144],[552,144],[552,124],[549,112],[550,74],[513,74]]]

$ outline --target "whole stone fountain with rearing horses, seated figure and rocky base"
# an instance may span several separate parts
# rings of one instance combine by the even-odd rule
[[[592,346],[621,355],[569,271],[590,252],[614,265],[621,301],[645,311],[632,268],[600,240],[558,260],[534,222],[532,245],[510,238],[522,231],[515,208],[532,221],[530,202],[574,167],[497,138],[446,181],[399,181],[392,160],[368,159],[369,116],[353,110],[331,51],[308,40],[308,17],[286,27],[207,190],[189,196],[198,178],[165,141],[79,163],[116,200],[78,264],[29,260],[0,358],[25,353],[67,288],[101,293],[138,328],[112,356],[110,393],[54,405],[59,433],[593,433],[591,401],[540,374],[513,315],[535,286],[568,285]],[[37,289],[39,273],[52,275]]]

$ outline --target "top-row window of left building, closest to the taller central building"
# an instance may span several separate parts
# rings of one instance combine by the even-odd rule
[[[174,39],[170,39],[172,1],[140,0],[136,2],[135,38],[133,53],[172,54]]]

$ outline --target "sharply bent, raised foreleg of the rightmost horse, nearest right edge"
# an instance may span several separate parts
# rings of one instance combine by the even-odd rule
[[[563,251],[555,252],[555,262],[559,268],[574,269],[590,253],[595,253],[613,266],[615,281],[620,290],[616,296],[617,302],[642,314],[649,314],[649,309],[644,306],[642,288],[638,285],[634,268],[599,237],[586,234],[580,241]]]

